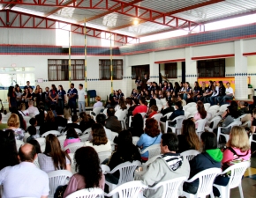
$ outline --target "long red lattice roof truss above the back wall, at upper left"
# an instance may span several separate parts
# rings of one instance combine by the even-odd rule
[[[0,11],[0,28],[62,29],[69,31],[67,30],[67,26],[71,26],[70,30],[72,33],[79,33],[84,35],[84,26],[81,25],[72,24],[52,18],[39,17],[19,11]],[[115,42],[124,44],[139,42],[139,39],[136,37],[87,27],[87,36],[110,40],[111,34],[114,35]]]

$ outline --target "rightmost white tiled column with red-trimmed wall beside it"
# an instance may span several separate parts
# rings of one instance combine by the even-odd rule
[[[235,41],[235,97],[248,99],[247,57],[243,55],[243,40]]]

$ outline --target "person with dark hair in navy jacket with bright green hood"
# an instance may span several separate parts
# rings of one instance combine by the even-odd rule
[[[201,135],[203,151],[190,161],[191,179],[197,173],[208,168],[221,168],[222,166],[222,150],[218,149],[217,138],[214,133],[204,132]],[[192,183],[184,182],[183,190],[190,194],[196,194],[199,187],[199,180]]]

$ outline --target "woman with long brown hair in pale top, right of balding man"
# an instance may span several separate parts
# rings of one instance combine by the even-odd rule
[[[45,151],[38,154],[38,163],[41,170],[47,173],[56,170],[72,170],[71,158],[61,150],[58,139],[52,134],[45,137]]]

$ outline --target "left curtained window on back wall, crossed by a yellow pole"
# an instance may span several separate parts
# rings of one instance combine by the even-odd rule
[[[85,79],[85,60],[72,60],[72,80]],[[48,60],[49,81],[69,80],[69,60]]]

